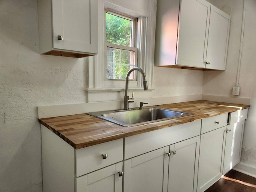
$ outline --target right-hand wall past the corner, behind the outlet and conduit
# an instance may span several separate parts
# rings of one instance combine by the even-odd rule
[[[232,87],[236,86],[236,76],[239,63],[240,37],[242,29],[242,15],[244,1],[241,0],[208,0],[214,6],[230,14],[230,39],[226,71],[204,72],[203,94],[232,96]],[[244,128],[242,146],[242,163],[248,170],[254,170],[256,176],[256,1],[246,0],[244,39],[240,65],[240,96],[250,98],[251,106]]]

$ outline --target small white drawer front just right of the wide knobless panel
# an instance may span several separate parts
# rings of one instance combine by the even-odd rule
[[[228,114],[217,115],[202,120],[201,134],[226,126],[228,123]]]

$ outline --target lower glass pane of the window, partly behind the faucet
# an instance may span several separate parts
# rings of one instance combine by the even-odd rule
[[[134,66],[134,51],[107,47],[107,79],[125,79],[127,72]],[[134,78],[132,72],[129,79]]]

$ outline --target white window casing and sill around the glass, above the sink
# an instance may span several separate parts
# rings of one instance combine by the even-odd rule
[[[105,52],[105,9],[122,12],[122,15],[129,15],[138,18],[135,39],[138,48],[137,66],[142,68],[146,74],[148,88],[152,90],[153,68],[154,68],[154,38],[156,25],[156,0],[143,0],[139,5],[144,9],[132,4],[132,1],[122,0],[99,0],[98,1],[98,55],[87,57],[85,62],[86,76],[86,102],[103,100],[120,100],[124,91],[125,81],[104,80],[104,52]],[[129,90],[143,90],[142,77],[136,75],[137,80],[129,82]],[[146,98],[150,97],[150,91],[145,93]],[[102,96],[104,95],[104,98]],[[105,98],[109,97],[109,98]],[[100,98],[100,100],[98,99]]]

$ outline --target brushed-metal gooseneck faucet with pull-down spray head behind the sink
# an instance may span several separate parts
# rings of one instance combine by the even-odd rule
[[[129,102],[133,102],[132,100],[129,100],[129,96],[128,96],[128,82],[129,82],[129,76],[133,71],[139,71],[142,74],[142,78],[143,78],[143,88],[144,90],[148,90],[148,83],[146,80],[146,75],[144,73],[144,71],[139,68],[139,67],[134,67],[131,68],[128,73],[126,74],[126,79],[125,79],[125,95],[124,95],[124,110],[128,110],[129,109]]]

